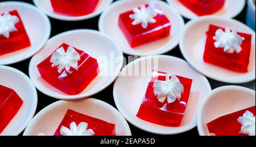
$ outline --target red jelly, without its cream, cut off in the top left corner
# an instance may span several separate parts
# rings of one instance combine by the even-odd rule
[[[12,53],[14,51],[18,51],[31,46],[30,38],[28,38],[26,29],[24,28],[18,11],[10,11],[9,14],[17,16],[19,18],[19,22],[15,24],[17,31],[10,32],[9,38],[6,38],[0,34],[0,55]]]

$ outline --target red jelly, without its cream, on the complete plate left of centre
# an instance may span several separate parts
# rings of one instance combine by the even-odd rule
[[[67,51],[69,45],[63,44],[60,47],[64,47],[64,50]],[[38,70],[43,79],[69,95],[81,93],[100,72],[96,59],[90,57],[84,51],[73,48],[80,54],[81,59],[78,61],[77,70],[71,67],[71,72],[67,73],[67,76],[61,76],[63,72],[58,72],[58,66],[52,67],[50,62],[52,55],[38,64]]]

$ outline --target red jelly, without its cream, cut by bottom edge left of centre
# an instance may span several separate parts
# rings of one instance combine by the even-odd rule
[[[115,124],[92,118],[73,110],[67,111],[54,136],[62,136],[60,133],[61,127],[64,126],[70,129],[70,124],[72,122],[75,122],[77,125],[82,122],[88,123],[87,129],[92,129],[95,133],[94,136],[115,136]]]

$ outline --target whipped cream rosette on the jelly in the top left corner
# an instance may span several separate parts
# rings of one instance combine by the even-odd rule
[[[19,18],[9,13],[0,15],[0,35],[2,34],[6,38],[10,37],[10,32],[18,31],[15,24],[19,22]]]

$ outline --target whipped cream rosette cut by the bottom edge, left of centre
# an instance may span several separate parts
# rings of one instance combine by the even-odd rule
[[[60,128],[60,134],[63,136],[93,136],[95,133],[92,129],[87,129],[88,123],[80,123],[79,126],[76,126],[75,122],[70,124],[70,129],[62,126]]]

